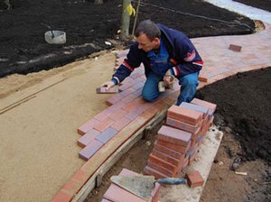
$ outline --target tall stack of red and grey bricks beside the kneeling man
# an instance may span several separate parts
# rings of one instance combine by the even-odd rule
[[[195,160],[215,110],[215,104],[198,98],[171,106],[165,125],[157,133],[144,173],[156,179],[178,177]]]

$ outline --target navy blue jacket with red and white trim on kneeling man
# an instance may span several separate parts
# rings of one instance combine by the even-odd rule
[[[203,61],[192,41],[180,31],[170,29],[163,24],[158,23],[157,25],[161,30],[161,41],[163,41],[169,56],[162,73],[165,73],[167,69],[171,69],[175,77],[182,78],[184,75],[199,72],[202,69]],[[148,52],[138,49],[138,43],[135,42],[130,47],[126,59],[114,73],[112,81],[115,84],[120,83],[141,63],[144,64],[145,76],[147,77],[154,65],[153,61],[148,57]]]

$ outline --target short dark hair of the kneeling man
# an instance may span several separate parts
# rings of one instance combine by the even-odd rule
[[[138,24],[135,30],[135,37],[140,36],[142,33],[145,33],[150,41],[153,41],[155,37],[160,38],[161,35],[159,27],[151,20],[145,20]]]

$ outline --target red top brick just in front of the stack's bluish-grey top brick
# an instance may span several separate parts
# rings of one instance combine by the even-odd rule
[[[182,106],[171,106],[167,111],[167,116],[187,124],[198,124],[202,119],[200,112]]]

